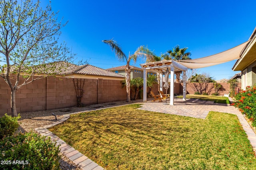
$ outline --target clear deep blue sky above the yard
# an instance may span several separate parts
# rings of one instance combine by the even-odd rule
[[[42,2],[42,5],[46,2]],[[68,24],[66,41],[78,59],[100,68],[124,65],[104,39],[114,39],[126,55],[147,45],[156,55],[176,45],[188,47],[191,58],[213,55],[248,40],[256,26],[255,0],[52,0]],[[135,66],[145,61],[138,61]],[[200,68],[215,80],[230,78],[235,61]],[[131,65],[134,65],[131,63]]]

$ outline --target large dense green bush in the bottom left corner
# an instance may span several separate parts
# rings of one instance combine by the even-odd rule
[[[4,137],[0,141],[0,169],[59,170],[59,152],[56,143],[32,131]]]

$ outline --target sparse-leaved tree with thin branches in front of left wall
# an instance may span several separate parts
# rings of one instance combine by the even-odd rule
[[[43,10],[39,1],[0,0],[0,76],[11,89],[12,116],[17,116],[18,88],[63,69],[54,66],[56,61],[74,57],[65,43],[58,44],[66,23],[57,15],[50,5]]]

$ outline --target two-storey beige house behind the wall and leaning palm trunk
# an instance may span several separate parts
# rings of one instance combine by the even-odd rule
[[[141,77],[143,78],[143,70],[139,67],[136,66],[130,66],[131,68],[131,79],[136,78],[136,77]],[[108,71],[112,71],[121,75],[125,76],[125,66],[118,66],[118,67],[113,67],[113,68],[108,68],[106,69]],[[148,72],[148,75],[154,75],[156,76],[156,72]]]

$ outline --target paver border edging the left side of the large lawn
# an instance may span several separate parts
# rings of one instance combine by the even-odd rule
[[[105,108],[104,108],[105,109]],[[82,170],[104,170],[101,166],[93,162],[90,158],[87,156],[84,156],[82,153],[80,153],[78,150],[74,149],[70,145],[68,145],[65,141],[60,139],[58,136],[56,136],[54,133],[49,131],[46,128],[53,127],[55,125],[58,125],[60,123],[63,123],[68,118],[70,118],[71,114],[77,114],[77,113],[84,113],[86,111],[80,111],[76,113],[70,113],[63,115],[64,117],[60,120],[58,120],[55,123],[52,123],[50,125],[46,125],[44,127],[38,127],[35,129],[40,135],[50,137],[52,141],[56,141],[56,146],[60,146],[60,152],[64,154],[67,158],[69,158],[72,162],[74,162],[79,168]]]

